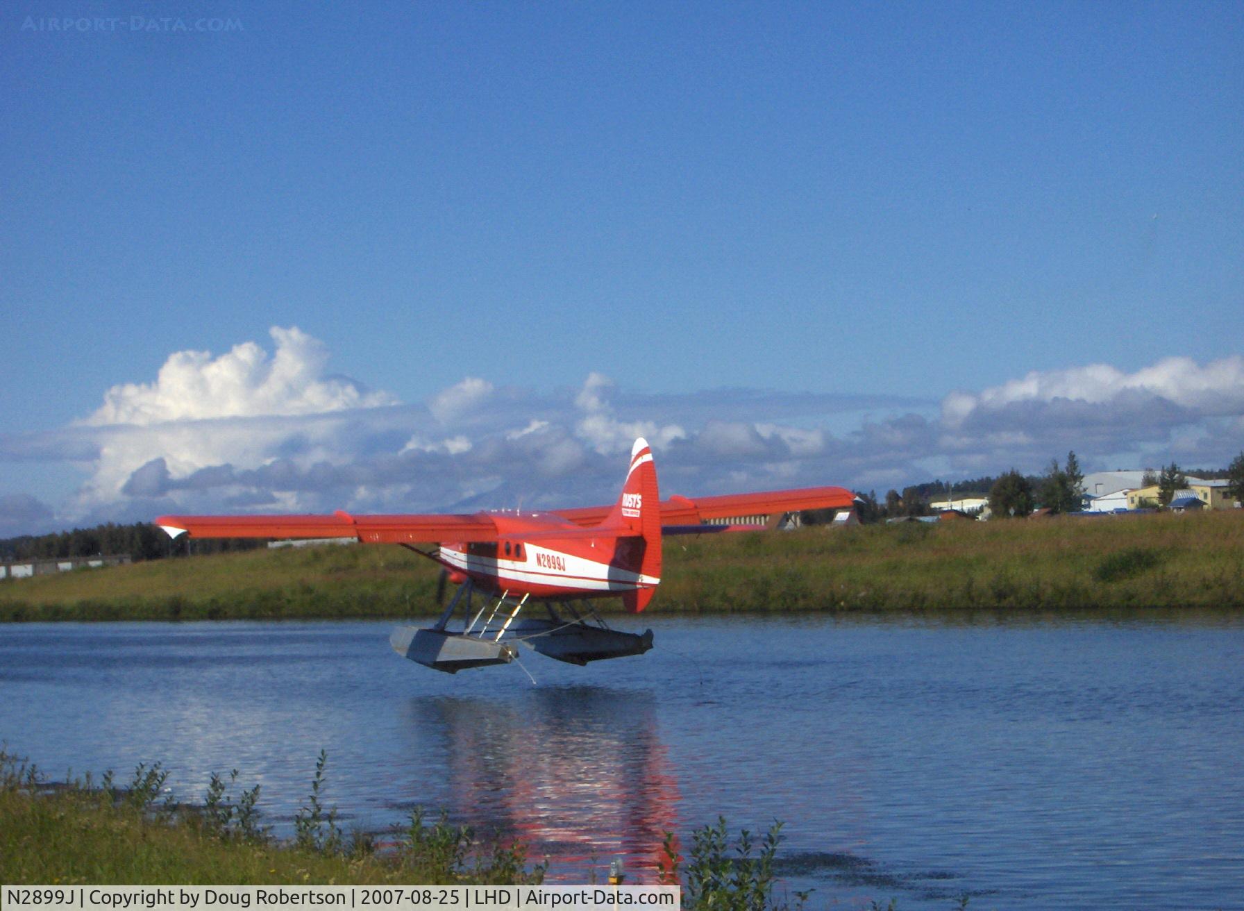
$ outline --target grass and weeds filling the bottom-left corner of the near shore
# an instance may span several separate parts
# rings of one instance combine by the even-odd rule
[[[317,803],[321,754],[312,794],[296,818],[292,843],[258,824],[253,800],[228,785],[209,789],[199,808],[159,804],[165,774],[139,767],[127,788],[111,775],[58,787],[0,750],[0,882],[12,884],[537,884],[521,845],[479,843],[444,816],[415,811],[386,850],[367,835],[345,836],[335,813]],[[220,783],[214,778],[214,785]],[[248,809],[250,800],[250,809]]]

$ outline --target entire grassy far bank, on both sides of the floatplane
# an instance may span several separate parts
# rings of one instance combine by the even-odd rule
[[[0,620],[427,616],[435,587],[399,548],[256,550],[0,581]],[[669,538],[649,611],[1080,607],[1244,607],[1244,512]]]

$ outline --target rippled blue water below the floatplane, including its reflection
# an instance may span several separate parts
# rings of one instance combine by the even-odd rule
[[[642,657],[442,675],[391,622],[0,627],[0,739],[51,778],[163,762],[262,785],[318,752],[345,825],[411,808],[515,834],[586,881],[785,824],[810,907],[1244,907],[1244,620],[627,619]],[[282,829],[284,826],[284,829]]]

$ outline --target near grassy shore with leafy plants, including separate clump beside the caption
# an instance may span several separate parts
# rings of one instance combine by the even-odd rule
[[[259,788],[236,799],[213,777],[202,805],[160,803],[167,773],[139,765],[126,788],[111,773],[57,785],[0,749],[0,882],[5,885],[536,885],[545,866],[529,865],[520,843],[478,841],[466,826],[415,810],[404,831],[386,838],[336,825],[320,800],[326,757],[295,818],[297,835],[277,841],[259,823]],[[688,856],[666,833],[662,861],[642,879],[684,887],[685,907],[790,911],[775,896],[774,859],[781,825],[731,841],[725,820],[695,830]],[[595,882],[586,871],[583,882]],[[805,894],[796,894],[796,910]]]

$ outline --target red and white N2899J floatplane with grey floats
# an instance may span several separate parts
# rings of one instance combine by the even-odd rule
[[[847,509],[853,503],[855,494],[841,487],[661,500],[652,449],[641,438],[631,449],[622,492],[607,507],[471,515],[350,515],[343,512],[332,515],[162,515],[156,524],[173,538],[183,534],[274,539],[350,536],[364,544],[399,544],[415,550],[440,564],[448,580],[459,584],[462,590],[437,626],[413,631],[409,636],[394,633],[393,646],[420,663],[457,671],[510,661],[514,650],[508,643],[515,638],[550,657],[573,663],[647,651],[651,632],[646,637],[616,633],[605,627],[603,621],[600,627],[586,627],[567,602],[621,597],[628,610],[642,611],[661,584],[663,535],[733,530],[738,526],[723,524],[723,520],[734,516],[776,520],[787,513]],[[438,546],[424,551],[417,544]],[[475,590],[499,596],[491,616],[480,625],[485,605],[470,624],[464,622],[463,632],[450,632],[448,622],[464,594],[470,616],[470,597]],[[519,610],[529,600],[544,601],[550,620],[515,625]],[[570,610],[572,620],[559,617],[554,604]],[[491,625],[494,621],[496,626]],[[522,636],[522,630],[534,632]],[[448,640],[442,641],[445,637]],[[429,645],[433,638],[434,648]],[[476,641],[493,645],[485,647]]]

